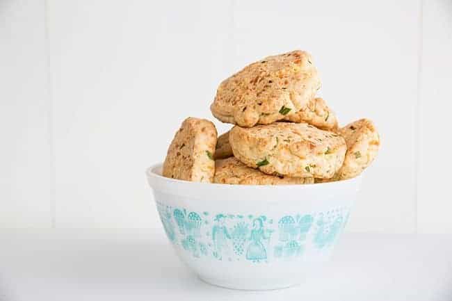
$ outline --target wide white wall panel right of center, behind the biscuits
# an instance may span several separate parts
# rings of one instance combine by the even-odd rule
[[[352,231],[415,231],[414,114],[419,1],[237,1],[234,66],[310,51],[320,93],[341,124],[376,122],[382,148],[366,172]]]

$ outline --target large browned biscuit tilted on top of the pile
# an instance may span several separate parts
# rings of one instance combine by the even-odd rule
[[[271,124],[307,106],[320,87],[307,52],[268,56],[220,83],[211,112],[241,127]]]

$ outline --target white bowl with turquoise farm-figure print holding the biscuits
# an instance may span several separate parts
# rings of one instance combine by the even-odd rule
[[[330,259],[361,178],[324,184],[204,184],[147,170],[166,234],[202,280],[266,290],[299,284]]]

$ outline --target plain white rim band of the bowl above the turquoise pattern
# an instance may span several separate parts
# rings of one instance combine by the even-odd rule
[[[171,179],[161,175],[163,163],[156,163],[146,170],[147,182],[154,192],[161,191],[171,195],[184,195],[193,198],[209,198],[218,200],[260,199],[270,200],[275,195],[281,195],[286,200],[299,200],[299,195],[324,195],[350,189],[357,191],[362,181],[362,175],[352,179],[316,184],[300,185],[232,185],[216,183],[200,183]],[[278,197],[279,198],[279,197]]]

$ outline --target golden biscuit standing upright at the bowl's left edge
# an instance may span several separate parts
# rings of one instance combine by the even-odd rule
[[[209,120],[188,117],[168,148],[163,177],[195,182],[213,181],[216,128]]]

